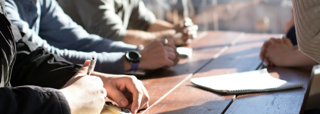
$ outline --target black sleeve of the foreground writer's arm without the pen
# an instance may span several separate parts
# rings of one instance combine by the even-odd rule
[[[60,89],[81,68],[62,57],[49,53],[44,47],[37,47],[28,41],[16,26],[12,26],[16,38],[17,56],[10,83],[13,87],[34,85]]]

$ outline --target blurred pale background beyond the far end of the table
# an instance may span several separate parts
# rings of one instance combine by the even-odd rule
[[[190,17],[199,30],[284,34],[291,0],[143,0],[157,19]]]

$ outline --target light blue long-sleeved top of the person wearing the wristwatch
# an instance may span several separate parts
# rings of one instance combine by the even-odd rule
[[[38,0],[36,6],[41,11],[38,19],[25,18],[37,13],[25,10],[31,9],[31,6],[23,1],[6,0],[5,9],[7,17],[28,35],[29,41],[75,64],[83,64],[85,60],[96,57],[98,61],[95,71],[114,74],[124,72],[123,52],[136,49],[137,46],[88,34],[62,11],[55,0]],[[30,21],[36,21],[36,25],[30,27]]]

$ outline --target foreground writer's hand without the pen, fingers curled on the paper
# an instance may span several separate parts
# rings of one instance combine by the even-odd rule
[[[93,72],[99,76],[107,90],[107,97],[119,106],[131,110],[133,114],[149,106],[149,95],[142,82],[135,76],[111,75]]]

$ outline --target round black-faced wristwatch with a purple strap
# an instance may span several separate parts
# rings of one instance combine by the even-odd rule
[[[131,63],[130,70],[137,70],[139,66],[141,54],[136,50],[130,50],[126,52],[125,57]]]

